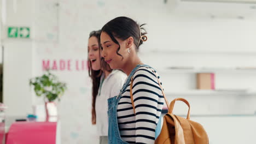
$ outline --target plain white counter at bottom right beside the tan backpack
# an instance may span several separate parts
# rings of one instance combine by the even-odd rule
[[[230,116],[230,117],[191,117],[200,122],[205,128],[209,142],[225,143],[255,143],[256,139],[255,116]],[[243,123],[247,124],[243,124]]]

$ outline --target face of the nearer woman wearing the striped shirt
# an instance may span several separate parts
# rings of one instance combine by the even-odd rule
[[[102,46],[102,52],[101,56],[104,58],[104,60],[109,64],[111,69],[121,69],[124,67],[125,59],[127,57],[128,52],[125,51],[125,42],[123,40],[117,39],[120,50],[118,53],[124,57],[121,57],[117,54],[117,50],[119,48],[119,45],[114,43],[114,41],[109,37],[109,35],[106,32],[101,32],[101,46]]]

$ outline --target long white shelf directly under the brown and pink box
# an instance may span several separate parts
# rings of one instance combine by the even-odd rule
[[[167,97],[169,96],[212,96],[212,95],[256,95],[256,92],[251,92],[247,90],[191,90],[191,91],[178,91],[178,92],[165,92],[165,95]]]

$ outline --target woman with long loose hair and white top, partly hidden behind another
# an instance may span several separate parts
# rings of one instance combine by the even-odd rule
[[[127,76],[123,71],[112,70],[106,62],[101,61],[99,37],[100,31],[92,31],[88,40],[89,76],[92,79],[91,122],[97,125],[100,143],[108,143],[107,99],[119,93]]]

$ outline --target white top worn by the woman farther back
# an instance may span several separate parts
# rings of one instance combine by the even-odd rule
[[[126,74],[122,71],[112,70],[108,77],[103,81],[101,89],[98,89],[95,110],[97,134],[100,136],[108,135],[108,99],[119,94],[126,77]],[[104,74],[101,76],[101,82],[103,78]]]

